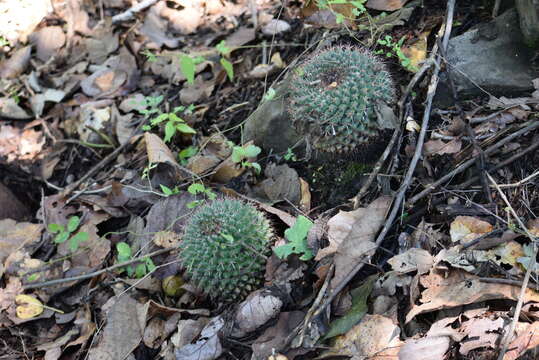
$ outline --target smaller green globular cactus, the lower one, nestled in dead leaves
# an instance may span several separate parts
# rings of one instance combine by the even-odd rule
[[[260,285],[271,238],[269,221],[254,206],[214,200],[186,225],[180,258],[199,289],[212,298],[239,300]]]

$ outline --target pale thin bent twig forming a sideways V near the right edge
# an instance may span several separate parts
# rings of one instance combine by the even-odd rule
[[[488,179],[490,182],[496,187],[496,190],[500,194],[501,198],[505,202],[505,205],[509,208],[509,211],[511,211],[511,214],[515,218],[515,220],[518,222],[518,225],[521,227],[522,230],[526,233],[526,236],[531,240],[532,244],[535,245],[536,237],[530,234],[530,231],[524,225],[522,220],[520,220],[520,217],[515,212],[515,209],[511,206],[509,203],[509,200],[507,200],[507,197],[505,196],[504,192],[496,181],[490,176],[490,174],[487,173]],[[515,307],[515,313],[513,315],[513,321],[511,322],[511,326],[509,327],[509,331],[504,335],[504,338],[502,340],[502,350],[500,351],[500,354],[498,355],[498,360],[503,360],[505,353],[507,352],[507,348],[509,347],[509,343],[511,342],[511,337],[513,333],[515,332],[515,328],[517,326],[518,318],[520,316],[520,311],[522,310],[522,303],[524,302],[524,295],[526,293],[526,288],[528,287],[528,283],[530,282],[530,276],[532,273],[532,269],[535,269],[535,259],[537,258],[537,250],[539,248],[537,246],[534,246],[533,256],[530,258],[533,259],[533,261],[530,261],[528,263],[528,269],[526,270],[526,274],[524,275],[524,280],[522,280],[522,287],[520,288],[520,294],[518,296],[517,306]]]

